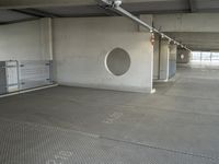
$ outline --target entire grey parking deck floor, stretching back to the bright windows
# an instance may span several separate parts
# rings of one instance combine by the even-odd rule
[[[219,83],[214,80],[219,73],[217,67],[204,69],[178,68],[175,81],[157,83],[152,95],[58,86],[1,98],[1,125],[5,126],[0,126],[0,136],[8,138],[5,144],[0,141],[7,148],[1,152],[3,160],[13,163],[20,157],[25,164],[36,154],[48,162],[61,150],[88,142],[68,151],[77,160],[70,156],[62,163],[89,163],[89,159],[90,163],[219,163]],[[18,125],[18,130],[4,132],[13,129],[11,125]],[[51,130],[41,136],[47,128]],[[62,130],[68,134],[60,134]],[[22,141],[33,138],[30,132],[39,134],[39,140]],[[77,137],[78,132],[83,137]],[[21,144],[13,144],[14,140]],[[50,149],[43,155],[38,150],[45,145]],[[103,154],[95,153],[100,151]],[[16,156],[12,161],[11,154]]]

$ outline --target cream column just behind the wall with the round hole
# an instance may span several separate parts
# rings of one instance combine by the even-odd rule
[[[159,80],[169,80],[170,48],[169,40],[162,39],[160,43],[160,75]]]

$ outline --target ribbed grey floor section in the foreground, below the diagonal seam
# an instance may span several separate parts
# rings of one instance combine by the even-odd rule
[[[0,118],[1,164],[218,164],[203,156]]]

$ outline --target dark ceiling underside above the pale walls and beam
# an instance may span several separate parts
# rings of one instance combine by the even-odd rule
[[[26,20],[26,16],[35,19],[115,15],[104,10],[104,7],[97,5],[99,1],[1,0],[0,13],[4,12],[4,14],[0,14],[0,23],[23,21]],[[123,0],[123,8],[134,14],[219,12],[219,0]],[[8,14],[5,10],[8,10]],[[14,15],[13,19],[7,19],[12,15]]]

